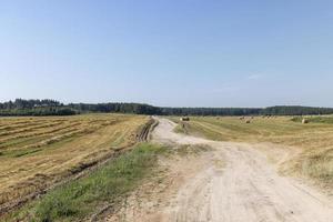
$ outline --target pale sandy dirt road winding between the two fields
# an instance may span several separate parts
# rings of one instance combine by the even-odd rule
[[[208,144],[214,151],[203,155],[205,161],[198,159],[194,163],[184,161],[176,164],[173,181],[181,179],[181,182],[170,185],[175,195],[172,196],[167,189],[164,199],[155,202],[155,206],[148,211],[135,209],[123,221],[333,222],[332,200],[297,181],[279,175],[265,155],[253,145],[178,134],[173,132],[173,122],[159,121],[153,132],[155,141]],[[189,170],[191,164],[194,170]],[[168,192],[171,193],[170,199],[165,196]]]

